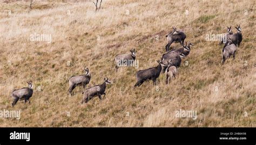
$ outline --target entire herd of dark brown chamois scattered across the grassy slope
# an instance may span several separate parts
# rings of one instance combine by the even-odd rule
[[[166,35],[167,37],[167,45],[165,46],[166,53],[163,54],[163,56],[157,60],[158,65],[156,67],[151,67],[146,70],[140,70],[136,73],[136,79],[137,82],[134,85],[134,87],[139,87],[143,84],[144,81],[152,80],[153,85],[156,85],[157,78],[159,77],[160,73],[165,73],[166,78],[166,84],[170,83],[170,79],[175,77],[177,74],[177,68],[181,64],[181,59],[184,57],[187,57],[190,53],[191,47],[194,46],[191,42],[186,43],[186,34],[185,32],[181,30],[177,30],[176,27],[172,27],[173,31]],[[224,43],[224,47],[222,50],[223,58],[222,63],[225,63],[225,60],[228,59],[230,56],[233,56],[235,58],[235,52],[237,51],[237,46],[240,46],[240,43],[242,41],[242,30],[240,25],[235,27],[237,29],[237,33],[232,32],[232,28],[227,27],[227,33],[225,34],[225,39],[221,39],[219,44]],[[185,42],[185,44],[184,44]],[[180,43],[179,48],[173,48],[170,50],[170,46],[172,43]],[[118,68],[120,65],[122,66],[130,66],[132,63],[136,60],[136,52],[135,49],[130,50],[131,53],[127,54],[118,54],[114,58],[114,63],[116,64],[116,72],[118,71]],[[126,60],[131,62],[129,64],[122,64],[123,61]],[[100,100],[102,100],[102,95],[104,95],[105,98],[105,89],[106,84],[110,84],[108,78],[104,78],[103,84],[96,85],[90,88],[86,88],[86,85],[89,84],[91,80],[91,74],[89,71],[89,68],[84,68],[85,74],[78,75],[78,76],[72,76],[69,79],[69,94],[72,94],[72,91],[77,86],[83,86],[83,92],[82,94],[83,99],[82,103],[87,103],[89,100],[91,100],[93,97],[98,96]],[[32,82],[28,82],[29,87],[24,87],[21,89],[15,89],[11,93],[11,98],[14,99],[12,102],[12,106],[15,106],[17,101],[19,100],[25,100],[25,103],[29,101],[31,96],[33,95],[33,85]],[[86,88],[86,89],[85,89]]]

